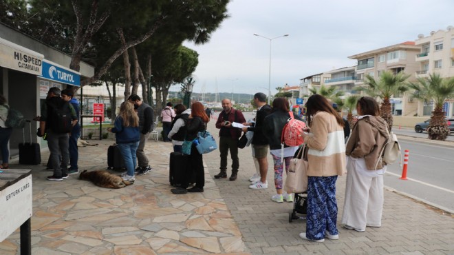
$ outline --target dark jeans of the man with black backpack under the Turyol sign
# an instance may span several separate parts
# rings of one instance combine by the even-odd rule
[[[50,150],[50,166],[54,169],[54,176],[66,176],[69,163],[68,134],[58,134],[47,130],[47,146]],[[61,162],[58,154],[61,155]]]

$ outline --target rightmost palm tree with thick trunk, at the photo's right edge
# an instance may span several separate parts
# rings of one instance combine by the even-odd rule
[[[435,103],[431,121],[427,128],[429,139],[446,140],[449,128],[444,119],[443,104],[446,99],[454,98],[454,78],[443,79],[440,74],[433,73],[429,75],[429,79],[418,78],[416,83],[409,83],[409,88],[415,90],[413,97],[416,99],[425,103],[430,101]]]

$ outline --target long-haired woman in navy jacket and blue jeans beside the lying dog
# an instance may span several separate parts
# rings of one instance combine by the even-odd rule
[[[134,111],[134,105],[125,101],[120,105],[120,114],[114,122],[114,128],[107,131],[115,133],[116,143],[125,161],[127,172],[123,173],[125,181],[136,181],[134,170],[136,169],[136,150],[140,143],[139,117]]]

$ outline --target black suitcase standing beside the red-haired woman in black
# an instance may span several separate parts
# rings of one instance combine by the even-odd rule
[[[186,178],[185,172],[188,171],[188,156],[181,152],[171,152],[169,162],[169,182],[173,187],[182,185],[182,181]],[[195,174],[191,175],[189,183],[195,183]]]

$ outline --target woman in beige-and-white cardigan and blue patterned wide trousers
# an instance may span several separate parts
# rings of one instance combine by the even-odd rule
[[[306,103],[307,125],[303,132],[307,151],[307,223],[303,239],[323,242],[338,239],[336,180],[345,172],[344,121],[319,94]],[[307,133],[310,131],[310,133]]]

